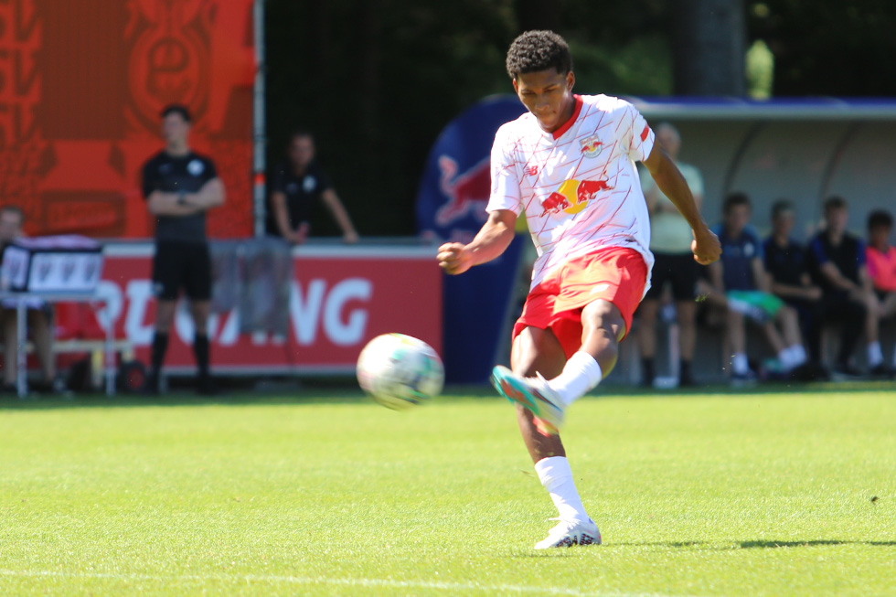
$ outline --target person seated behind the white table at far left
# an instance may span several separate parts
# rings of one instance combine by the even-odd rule
[[[0,263],[3,262],[3,253],[6,246],[13,240],[23,236],[22,225],[25,223],[25,213],[16,206],[4,206],[0,208]],[[42,301],[34,301],[28,305],[27,329],[34,342],[37,360],[43,380],[38,382],[37,389],[61,389],[54,385],[56,382],[56,363],[52,353],[52,321],[53,314],[48,304]],[[18,336],[16,327],[18,316],[16,304],[13,301],[4,301],[0,305],[0,325],[3,325],[3,392],[15,392],[18,370]]]

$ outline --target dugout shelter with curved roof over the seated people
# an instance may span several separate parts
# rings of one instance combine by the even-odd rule
[[[896,212],[896,100],[627,99],[651,126],[668,122],[681,133],[679,158],[704,176],[702,211],[710,226],[720,221],[722,200],[732,191],[751,197],[752,224],[763,238],[773,202],[784,197],[795,203],[801,242],[819,228],[827,197],[848,201],[848,229],[863,239],[871,210]],[[698,330],[694,368],[701,380],[724,378],[719,341],[718,331]],[[636,343],[626,344],[614,382],[640,378]],[[657,355],[658,367],[668,360],[670,344]],[[763,349],[761,338],[752,337],[752,353]],[[863,352],[857,350],[859,360]]]

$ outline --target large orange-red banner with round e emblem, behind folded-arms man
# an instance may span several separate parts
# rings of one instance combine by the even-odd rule
[[[252,0],[0,2],[0,200],[32,236],[151,236],[140,169],[178,102],[227,187],[209,233],[251,235],[254,72]]]

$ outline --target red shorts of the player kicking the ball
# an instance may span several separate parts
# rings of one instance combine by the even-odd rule
[[[513,339],[527,326],[550,329],[569,358],[581,347],[581,310],[598,299],[619,309],[627,335],[646,283],[647,264],[634,249],[608,247],[567,261],[529,291]]]

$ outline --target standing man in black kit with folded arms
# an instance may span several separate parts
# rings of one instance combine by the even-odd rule
[[[147,390],[159,393],[159,379],[177,297],[183,290],[190,301],[196,328],[193,353],[197,363],[196,389],[215,393],[208,372],[208,312],[211,298],[211,259],[206,237],[206,211],[224,203],[224,185],[208,157],[190,149],[190,112],[172,104],[162,111],[165,149],[143,169],[146,207],[155,218],[153,291],[157,300],[153,362]]]

